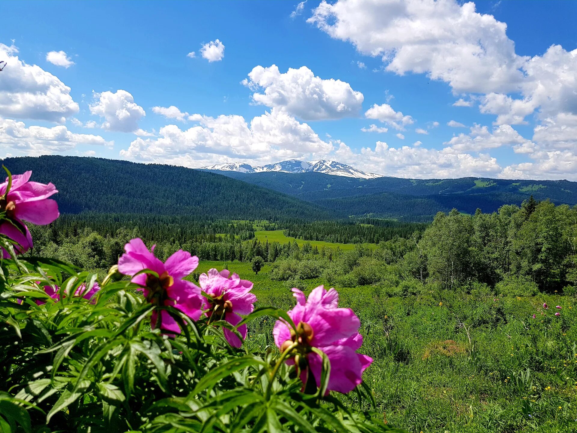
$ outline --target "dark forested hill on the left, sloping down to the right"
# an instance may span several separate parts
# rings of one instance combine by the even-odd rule
[[[52,182],[61,213],[187,215],[218,219],[329,219],[333,212],[229,177],[156,164],[39,156],[6,158],[12,173]]]

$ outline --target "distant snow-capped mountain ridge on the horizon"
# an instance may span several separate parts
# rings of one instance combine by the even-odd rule
[[[241,162],[230,162],[226,164],[215,164],[209,167],[203,167],[204,170],[222,170],[222,171],[239,171],[240,173],[262,173],[263,171],[282,171],[283,173],[308,173],[317,171],[319,173],[333,174],[334,176],[357,177],[361,179],[374,179],[383,177],[381,174],[366,173],[366,171],[357,170],[350,165],[326,159],[316,161],[301,161],[298,159],[289,159],[287,161],[277,162],[263,166],[252,166]]]

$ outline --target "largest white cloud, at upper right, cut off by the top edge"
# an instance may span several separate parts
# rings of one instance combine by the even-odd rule
[[[507,25],[454,0],[322,1],[309,23],[397,74],[426,73],[455,92],[508,92],[523,80]]]

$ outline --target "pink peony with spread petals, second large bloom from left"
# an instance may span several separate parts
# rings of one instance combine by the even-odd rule
[[[134,275],[143,269],[158,274],[138,274],[130,281],[142,287],[147,301],[153,305],[178,308],[192,320],[198,320],[203,313],[200,288],[182,278],[189,275],[198,266],[198,257],[179,249],[162,263],[154,254],[154,247],[148,251],[140,238],[133,239],[124,246],[126,253],[118,259],[118,271],[125,275]],[[158,311],[152,313],[152,327],[156,327]],[[160,313],[160,329],[170,333],[180,333],[177,321],[166,310]]]

